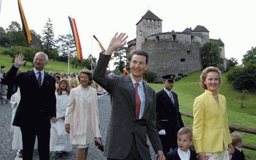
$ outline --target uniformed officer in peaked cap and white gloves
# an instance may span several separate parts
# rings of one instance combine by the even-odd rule
[[[177,147],[177,132],[184,127],[179,112],[178,96],[172,92],[175,75],[163,76],[164,88],[156,94],[157,129],[166,155]]]

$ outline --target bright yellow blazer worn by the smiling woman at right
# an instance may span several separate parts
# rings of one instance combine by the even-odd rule
[[[196,152],[220,152],[227,149],[231,138],[227,122],[226,98],[218,94],[220,108],[212,92],[205,92],[195,99],[193,113],[193,140]]]

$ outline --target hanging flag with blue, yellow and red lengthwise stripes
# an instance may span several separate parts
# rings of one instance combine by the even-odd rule
[[[74,36],[75,44],[76,44],[76,51],[77,51],[78,59],[82,59],[82,48],[81,48],[81,44],[80,44],[78,31],[76,28],[76,21],[74,18],[71,18],[69,16],[69,22],[70,22],[71,30],[72,30],[72,33]]]

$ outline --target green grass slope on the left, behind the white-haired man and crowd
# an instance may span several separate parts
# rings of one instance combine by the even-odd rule
[[[3,48],[0,48],[0,66],[4,65],[6,67],[6,72],[9,70],[9,68],[13,65],[12,58],[9,55],[3,55],[1,54]],[[32,62],[27,62],[26,66],[20,66],[20,69],[22,71],[28,71],[33,68]],[[79,73],[79,71],[82,70],[82,68],[72,68],[72,64],[70,64],[70,73]],[[68,63],[61,63],[57,61],[49,60],[48,64],[45,66],[45,72],[55,72],[55,73],[68,73]]]

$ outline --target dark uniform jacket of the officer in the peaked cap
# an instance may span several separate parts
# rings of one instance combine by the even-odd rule
[[[174,96],[175,106],[164,89],[156,94],[157,129],[160,131],[162,129],[169,130],[173,128],[177,134],[179,129],[184,127],[184,124],[179,111],[178,96],[175,92],[172,92],[172,94]]]

